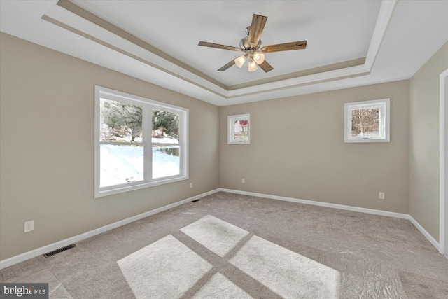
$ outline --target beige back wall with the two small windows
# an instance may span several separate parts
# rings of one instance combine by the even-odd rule
[[[344,103],[386,97],[391,142],[345,144]],[[251,144],[229,145],[227,117],[241,113],[251,113]],[[409,81],[225,106],[220,114],[221,188],[408,213]]]

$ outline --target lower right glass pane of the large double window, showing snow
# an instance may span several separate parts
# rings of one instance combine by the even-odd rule
[[[179,146],[158,146],[153,144],[153,179],[179,175]]]

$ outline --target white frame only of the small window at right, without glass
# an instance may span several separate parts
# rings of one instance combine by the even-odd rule
[[[379,136],[351,136],[351,111],[379,108]],[[371,101],[344,104],[344,142],[390,142],[391,141],[391,99],[373,99]]]

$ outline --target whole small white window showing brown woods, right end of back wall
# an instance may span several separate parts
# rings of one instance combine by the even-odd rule
[[[391,99],[344,104],[344,142],[389,142]]]

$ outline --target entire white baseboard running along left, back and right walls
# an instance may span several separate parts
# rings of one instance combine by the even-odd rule
[[[101,228],[90,230],[89,232],[84,232],[83,234],[76,235],[76,236],[70,237],[68,239],[63,239],[62,241],[55,242],[55,243],[49,244],[47,246],[43,246],[41,248],[22,253],[18,256],[13,256],[12,258],[6,258],[6,260],[0,260],[0,270],[3,268],[9,267],[11,265],[15,265],[17,263],[21,263],[25,260],[29,260],[30,258],[34,258],[36,256],[40,256],[40,255],[48,253],[50,251],[54,251],[61,247],[68,246],[69,244],[80,242],[83,239],[87,239],[87,238],[93,237],[95,235],[99,235],[103,232],[107,232],[108,230],[113,230],[114,228],[119,228],[122,225],[126,225],[128,223],[132,223],[132,222],[140,220],[142,218],[146,218],[148,216],[158,214],[161,211],[166,211],[167,209],[179,207],[181,204],[186,204],[188,202],[192,202],[193,200],[197,200],[197,199],[200,199],[207,195],[211,195],[211,194],[218,193],[218,192],[235,193],[235,194],[241,194],[241,195],[251,195],[251,196],[255,196],[255,197],[265,197],[265,198],[269,198],[272,200],[283,200],[286,202],[297,202],[300,204],[311,204],[311,205],[315,205],[315,206],[319,206],[319,207],[329,207],[332,209],[344,209],[344,210],[348,210],[348,211],[358,211],[358,212],[367,213],[367,214],[407,219],[407,220],[411,221],[412,224],[415,225],[415,227],[421,232],[421,234],[424,237],[426,237],[426,239],[428,239],[428,241],[437,249],[437,251],[439,250],[439,243],[409,214],[395,213],[395,212],[391,212],[391,211],[381,211],[381,210],[377,210],[377,209],[365,209],[365,208],[360,208],[360,207],[351,207],[351,206],[346,206],[343,204],[330,204],[328,202],[315,202],[313,200],[299,200],[297,198],[292,198],[292,197],[283,197],[283,196],[277,196],[277,195],[268,195],[268,194],[240,191],[240,190],[218,188],[218,189],[206,192],[206,193],[202,193],[200,195],[190,197],[186,200],[174,202],[173,204],[167,204],[166,206],[160,207],[158,209],[146,211],[143,214],[132,216],[130,218],[126,218],[121,221],[111,223],[109,225],[104,225]]]

